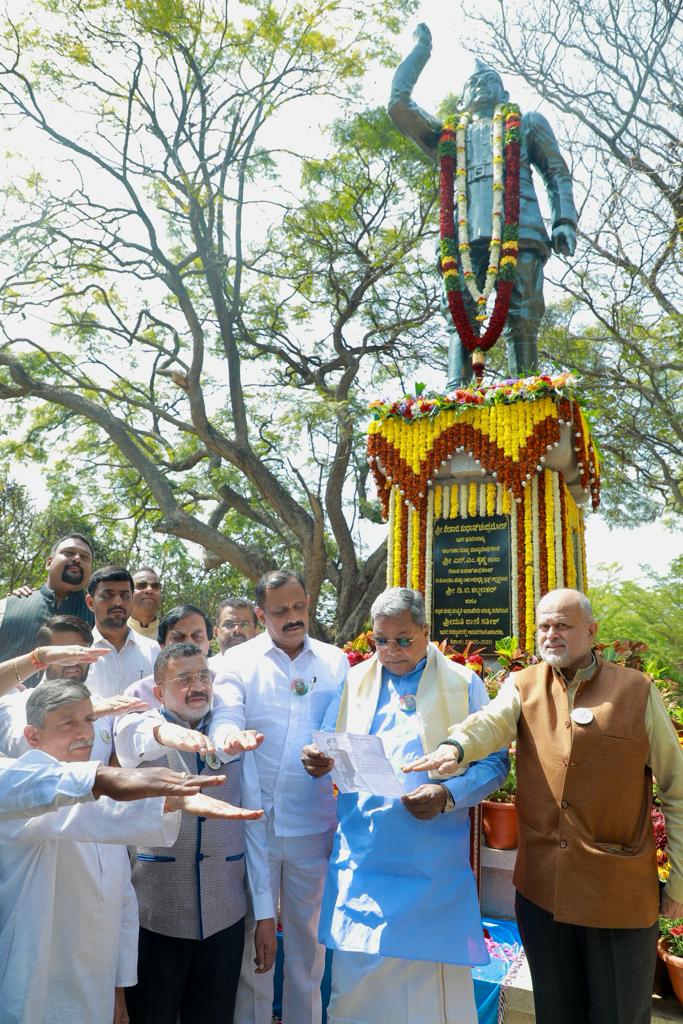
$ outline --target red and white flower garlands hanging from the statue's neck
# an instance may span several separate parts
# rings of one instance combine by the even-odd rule
[[[474,372],[480,380],[483,374],[483,352],[499,339],[510,309],[512,289],[517,270],[519,239],[519,129],[521,115],[516,103],[501,103],[496,108],[493,125],[494,207],[488,267],[483,291],[479,291],[470,258],[467,216],[466,132],[470,115],[461,113],[449,119],[438,143],[440,166],[440,255],[441,272],[453,323],[468,352],[474,352]],[[503,127],[504,126],[504,127]],[[503,135],[505,134],[505,142]],[[505,174],[503,168],[505,167]],[[458,188],[456,193],[456,177]],[[458,203],[458,232],[454,214]],[[505,227],[501,221],[505,211]],[[486,302],[497,284],[496,303],[483,335],[472,330],[467,316],[458,270],[460,256],[466,287],[477,303],[476,321],[486,318]]]

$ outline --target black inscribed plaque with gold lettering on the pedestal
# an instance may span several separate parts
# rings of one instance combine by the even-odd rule
[[[493,652],[512,633],[509,517],[437,519],[432,550],[432,640]]]

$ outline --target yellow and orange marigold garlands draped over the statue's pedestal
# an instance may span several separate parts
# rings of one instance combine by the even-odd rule
[[[574,379],[527,377],[446,395],[371,403],[368,459],[389,520],[387,586],[420,590],[428,611],[434,523],[504,515],[510,520],[512,632],[533,649],[533,610],[555,587],[586,590],[584,514],[548,453],[569,428],[581,484],[599,503],[598,456],[573,396]],[[482,479],[436,474],[465,453]],[[463,638],[459,638],[463,639]]]

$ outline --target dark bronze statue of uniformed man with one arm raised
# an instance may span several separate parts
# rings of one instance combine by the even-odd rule
[[[412,99],[413,89],[431,54],[431,33],[419,25],[415,46],[398,66],[391,86],[389,116],[403,135],[413,138],[424,152],[437,159],[442,125],[438,118],[421,110]],[[465,83],[462,106],[471,115],[466,129],[467,202],[472,267],[477,286],[483,287],[492,236],[493,152],[492,119],[499,103],[507,102],[508,93],[498,72],[480,60]],[[533,189],[531,166],[543,177],[552,212],[552,237],[546,231]],[[559,151],[550,124],[542,114],[524,114],[520,128],[519,172],[519,252],[510,309],[505,327],[508,366],[512,377],[538,372],[537,338],[543,301],[543,266],[556,253],[573,255],[577,245],[578,214],[571,191],[571,175]],[[462,268],[461,268],[462,273]],[[475,303],[463,290],[465,306],[474,325]],[[449,349],[449,388],[472,379],[472,356],[460,342],[447,305],[444,315],[451,330]],[[475,327],[476,331],[476,327]]]

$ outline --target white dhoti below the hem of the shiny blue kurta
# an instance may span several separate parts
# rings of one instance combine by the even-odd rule
[[[477,1024],[472,971],[335,949],[328,1024]]]

